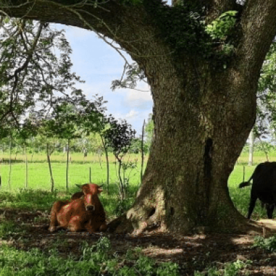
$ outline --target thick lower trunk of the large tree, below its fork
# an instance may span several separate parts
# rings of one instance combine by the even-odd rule
[[[255,95],[244,86],[233,93],[228,72],[198,79],[200,66],[190,66],[185,79],[172,81],[168,67],[158,69],[151,83],[158,95],[155,139],[127,217],[137,232],[153,225],[181,233],[197,226],[237,228],[244,218],[227,181],[255,121]]]

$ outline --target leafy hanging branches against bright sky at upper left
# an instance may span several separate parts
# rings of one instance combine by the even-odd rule
[[[50,112],[61,101],[83,98],[70,72],[72,52],[64,31],[48,23],[0,17],[0,121],[20,128],[26,112]],[[56,55],[56,52],[59,55]],[[59,92],[59,95],[57,94]]]

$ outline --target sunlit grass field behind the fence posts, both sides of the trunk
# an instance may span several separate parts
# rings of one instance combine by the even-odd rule
[[[7,200],[3,200],[0,202],[0,206],[10,206],[16,207],[20,206],[21,208],[25,206],[25,208],[32,208],[30,206],[30,202],[34,204],[33,207],[36,208],[50,208],[53,201],[57,198],[69,198],[72,193],[74,193],[77,188],[75,184],[84,184],[89,181],[90,178],[90,169],[91,169],[91,180],[96,184],[106,184],[106,161],[102,156],[101,159],[97,155],[88,155],[86,159],[83,159],[83,155],[80,153],[72,153],[70,155],[70,164],[69,164],[69,193],[66,193],[66,155],[63,154],[53,154],[51,157],[52,164],[52,172],[55,179],[55,189],[56,193],[46,193],[46,191],[50,190],[50,173],[48,168],[48,163],[46,161],[45,154],[37,154],[37,155],[28,155],[28,189],[30,191],[25,190],[26,188],[26,165],[24,163],[25,156],[17,155],[16,161],[14,160],[15,155],[12,155],[12,173],[11,173],[11,190],[13,190],[14,199],[10,203]],[[107,195],[107,186],[105,185],[104,193],[102,195],[103,203],[106,205],[108,213],[112,216],[117,215],[119,199],[117,198],[117,170],[115,166],[115,157],[110,154],[110,186],[108,187],[109,195]],[[2,155],[3,162],[0,165],[0,173],[1,173],[1,189],[2,196],[8,195],[10,193],[10,189],[8,187],[8,178],[9,178],[9,155]],[[124,161],[135,161],[137,159],[137,168],[126,170],[126,176],[130,179],[130,197],[128,206],[132,203],[135,193],[139,188],[140,184],[140,170],[141,170],[141,157],[140,155],[127,155],[124,158]],[[146,157],[147,160],[147,157]],[[275,156],[272,155],[270,157],[270,161],[276,160]],[[243,181],[243,170],[245,167],[245,180],[247,180],[250,175],[252,175],[255,166],[262,162],[266,161],[266,157],[262,153],[255,153],[254,157],[255,165],[247,166],[248,155],[243,153],[239,159],[237,160],[237,164],[230,175],[228,180],[228,187],[230,192],[230,197],[233,200],[236,208],[243,214],[246,215],[249,204],[250,197],[250,187],[245,187],[243,189],[239,189],[238,185]],[[22,190],[24,189],[24,190]],[[43,197],[47,194],[47,199],[39,199],[40,197],[36,196],[35,190],[42,190],[41,193]],[[21,190],[19,193],[18,191]],[[45,194],[46,193],[46,194]],[[26,198],[26,200],[24,200]],[[33,200],[33,198],[37,198],[37,200]],[[29,206],[29,207],[28,207]],[[117,206],[117,207],[116,207]],[[126,207],[126,206],[125,206]],[[116,210],[116,211],[114,211]],[[257,204],[255,211],[253,213],[253,219],[259,219],[262,217],[266,217],[265,209],[260,208],[259,204]]]

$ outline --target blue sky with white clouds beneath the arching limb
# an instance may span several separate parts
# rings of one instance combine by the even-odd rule
[[[63,25],[57,25],[56,28],[66,30],[66,38],[72,48],[72,72],[86,81],[77,87],[83,90],[88,99],[96,94],[103,96],[108,101],[107,113],[117,119],[126,119],[137,131],[136,136],[141,135],[143,121],[147,121],[152,112],[152,96],[148,84],[141,81],[137,86],[146,92],[132,89],[112,91],[112,80],[121,79],[124,59],[92,31]],[[128,55],[126,57],[130,63],[133,62]]]

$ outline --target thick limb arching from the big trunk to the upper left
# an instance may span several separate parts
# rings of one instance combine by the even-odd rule
[[[123,5],[116,0],[105,1],[104,4],[79,1],[66,5],[61,2],[66,3],[57,0],[10,0],[6,6],[2,2],[0,10],[11,17],[63,23],[93,30],[115,40],[132,57],[148,58],[172,53],[171,50],[164,51],[164,48],[155,47],[156,29],[150,26],[149,15],[143,5]]]

